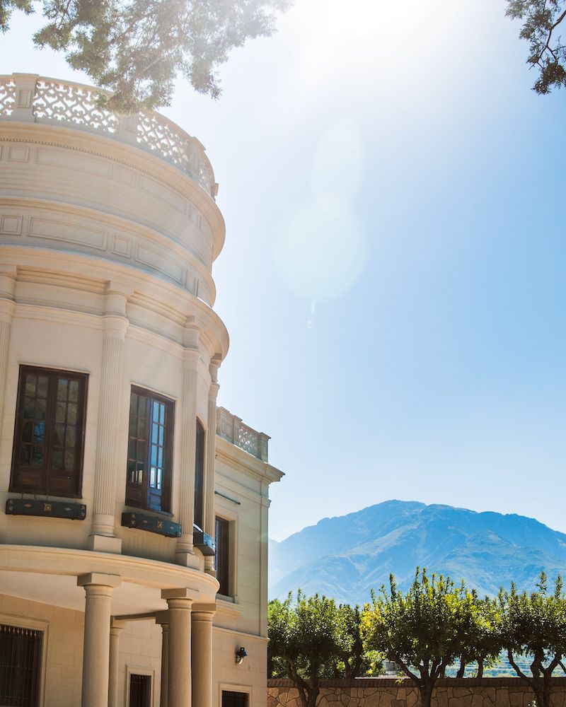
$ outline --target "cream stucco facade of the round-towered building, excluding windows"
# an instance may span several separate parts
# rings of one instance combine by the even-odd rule
[[[55,107],[41,112],[46,91]],[[169,658],[169,705],[188,707],[185,618],[214,612],[212,636],[206,621],[193,636],[193,651],[212,643],[212,678],[193,682],[192,705],[219,706],[222,686],[239,686],[250,707],[260,707],[267,695],[268,486],[282,474],[266,454],[216,434],[216,375],[229,339],[212,310],[212,262],[224,243],[214,175],[200,143],[166,119],[152,118],[169,142],[153,133],[137,142],[136,117],[104,118],[118,125],[109,134],[87,99],[88,89],[72,84],[0,77],[0,623],[45,627],[41,707],[108,704],[98,659],[81,677],[83,647],[98,655],[100,645],[111,646],[103,661],[110,660],[116,691],[109,704],[127,705],[129,674],[141,673],[151,675],[157,707],[161,622],[174,615],[169,635],[183,655]],[[77,124],[73,111],[83,104],[87,117]],[[168,148],[173,138],[183,162],[171,163],[178,160]],[[86,504],[84,520],[4,513],[6,501],[20,497],[9,486],[23,364],[88,374],[76,499]],[[121,525],[122,512],[136,510],[125,506],[132,385],[175,404],[171,520],[183,526],[180,539]],[[235,430],[239,419],[224,412]],[[212,563],[192,546],[197,418],[211,440],[204,531],[214,534],[215,515],[230,523],[226,597],[216,597]],[[246,439],[250,433],[258,435],[246,428]],[[267,450],[267,436],[258,440]],[[108,621],[98,620],[107,610],[115,643]],[[248,658],[237,666],[241,646]],[[171,670],[185,664],[172,683]],[[206,660],[198,665],[209,670]]]

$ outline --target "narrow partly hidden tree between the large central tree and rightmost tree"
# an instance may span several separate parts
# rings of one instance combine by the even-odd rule
[[[495,665],[503,648],[501,626],[502,613],[496,600],[490,597],[478,599],[475,590],[466,592],[463,606],[462,653],[456,677],[464,677],[466,667],[477,663],[476,677],[483,677],[485,667]]]

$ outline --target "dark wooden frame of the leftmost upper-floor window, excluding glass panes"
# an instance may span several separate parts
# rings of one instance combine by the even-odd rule
[[[21,469],[33,469],[39,467],[23,467],[21,462],[22,433],[25,405],[25,375],[44,375],[49,379],[46,397],[45,411],[45,462],[42,474],[45,477],[45,488],[31,488],[22,484],[20,475]],[[76,418],[76,469],[74,471],[74,493],[62,493],[61,489],[50,489],[50,476],[55,475],[52,469],[52,457],[54,451],[55,434],[55,410],[57,407],[57,391],[54,390],[54,381],[57,378],[69,378],[79,382],[79,393],[77,402]],[[82,399],[81,399],[82,398]],[[63,368],[47,368],[44,366],[28,366],[21,364],[18,375],[18,397],[16,402],[16,416],[14,420],[12,464],[10,474],[10,485],[8,491],[13,493],[38,493],[41,496],[52,496],[58,498],[82,498],[83,487],[83,466],[84,466],[84,442],[86,433],[86,402],[88,399],[88,373],[79,373],[74,370],[64,370]],[[39,473],[39,472],[37,472]]]

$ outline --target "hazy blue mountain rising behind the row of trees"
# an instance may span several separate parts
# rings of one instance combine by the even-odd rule
[[[417,566],[480,595],[512,581],[530,590],[541,570],[565,572],[566,535],[522,515],[386,501],[270,541],[270,598],[301,588],[363,604],[391,572],[407,588]]]

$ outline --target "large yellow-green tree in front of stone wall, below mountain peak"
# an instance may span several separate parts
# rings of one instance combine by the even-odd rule
[[[390,575],[390,588],[372,592],[366,604],[362,632],[366,647],[380,650],[396,662],[418,687],[423,707],[430,707],[434,685],[446,667],[467,653],[466,629],[474,597],[450,578],[427,575],[417,568],[406,594]]]

